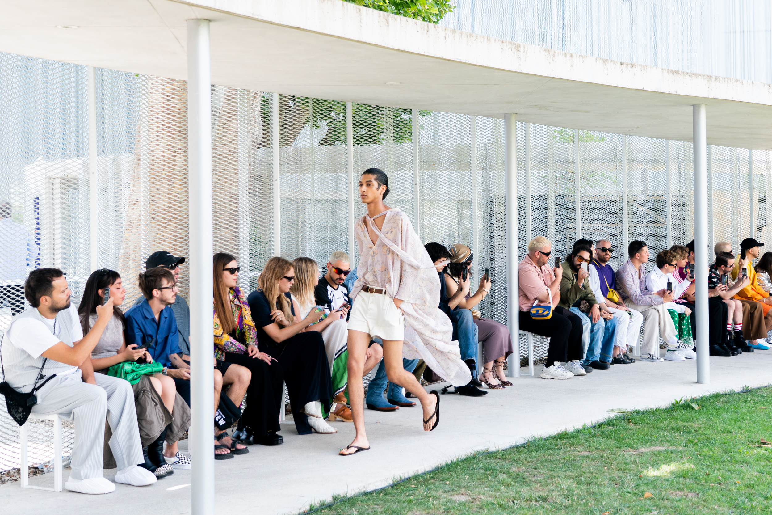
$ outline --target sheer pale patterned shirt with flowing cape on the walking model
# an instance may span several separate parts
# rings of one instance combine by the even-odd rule
[[[472,379],[469,367],[461,360],[459,345],[451,341],[450,319],[439,310],[439,277],[428,252],[418,239],[408,215],[398,208],[376,215],[384,216],[381,230],[364,215],[354,225],[359,244],[360,262],[357,282],[350,293],[354,299],[362,286],[384,288],[389,296],[402,300],[405,313],[403,355],[420,358],[429,368],[454,386]],[[373,245],[365,219],[378,240]]]

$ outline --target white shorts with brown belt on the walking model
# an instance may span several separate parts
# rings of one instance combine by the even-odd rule
[[[354,300],[349,330],[360,330],[383,340],[405,340],[405,315],[385,293],[362,290]]]

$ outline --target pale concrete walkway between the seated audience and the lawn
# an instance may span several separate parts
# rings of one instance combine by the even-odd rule
[[[248,455],[215,462],[217,513],[299,513],[334,494],[388,485],[476,450],[501,449],[601,421],[613,416],[609,409],[652,408],[685,396],[772,383],[772,351],[710,361],[709,385],[694,382],[694,360],[638,361],[567,381],[523,376],[513,380],[515,386],[490,391],[484,398],[442,395],[441,422],[431,433],[421,429],[419,408],[365,410],[372,449],[347,458],[336,452],[352,439],[351,424],[334,422],[339,429],[335,435],[306,436],[297,435],[291,423],[283,425],[283,446],[252,446]],[[106,476],[112,479],[114,473]],[[190,477],[190,471],[178,470],[141,490],[118,485],[108,496],[22,490],[11,483],[0,486],[0,498],[4,513],[47,513],[51,507],[79,515],[190,513]],[[30,483],[52,479],[46,474]]]

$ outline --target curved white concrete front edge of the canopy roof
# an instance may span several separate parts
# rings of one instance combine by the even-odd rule
[[[683,72],[479,36],[341,0],[173,0],[275,25],[515,73],[704,100],[772,105],[772,84]],[[216,21],[216,20],[215,20]]]

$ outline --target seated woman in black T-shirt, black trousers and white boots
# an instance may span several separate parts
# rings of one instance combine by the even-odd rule
[[[300,317],[289,295],[294,281],[292,263],[281,257],[268,260],[260,274],[259,290],[249,293],[247,299],[257,340],[286,371],[292,371],[286,374],[284,382],[297,432],[337,432],[324,421],[321,409],[323,404],[329,410],[333,398],[324,341],[319,331],[306,330],[324,312],[311,310],[306,317]]]

